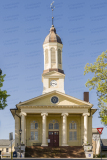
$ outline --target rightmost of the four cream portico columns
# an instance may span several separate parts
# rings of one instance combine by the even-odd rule
[[[88,142],[88,116],[90,114],[89,113],[83,113],[84,116],[84,144],[87,144]]]

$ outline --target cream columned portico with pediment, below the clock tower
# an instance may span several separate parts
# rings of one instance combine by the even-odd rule
[[[53,104],[51,98],[58,97],[58,103]],[[95,112],[92,104],[58,91],[43,94],[34,99],[17,104],[17,109],[11,110],[15,117],[15,145],[20,143],[20,118],[22,142],[27,146],[48,143],[53,133],[59,138],[58,146],[81,146],[87,141],[91,144],[92,115]],[[89,113],[90,110],[90,113]],[[20,111],[20,112],[19,112]],[[16,112],[16,115],[15,115]]]

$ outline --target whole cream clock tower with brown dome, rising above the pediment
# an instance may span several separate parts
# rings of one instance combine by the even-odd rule
[[[44,71],[42,74],[43,94],[57,90],[64,91],[65,74],[62,70],[62,48],[61,38],[56,34],[54,25],[43,43]]]

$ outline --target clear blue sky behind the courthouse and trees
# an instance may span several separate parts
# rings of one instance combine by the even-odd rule
[[[63,42],[65,93],[83,100],[83,92],[92,74],[83,75],[86,63],[94,63],[107,50],[106,0],[54,1],[54,26]],[[44,70],[43,42],[52,24],[51,0],[1,0],[0,4],[0,68],[6,74],[4,86],[11,96],[8,106],[0,110],[0,139],[14,133],[10,108],[20,101],[42,94]],[[98,108],[96,91],[89,101]],[[93,115],[93,128],[104,127],[98,111]],[[107,138],[104,127],[102,138]]]

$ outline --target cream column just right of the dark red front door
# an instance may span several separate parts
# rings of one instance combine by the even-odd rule
[[[62,146],[68,146],[67,144],[67,116],[68,113],[62,113]]]

